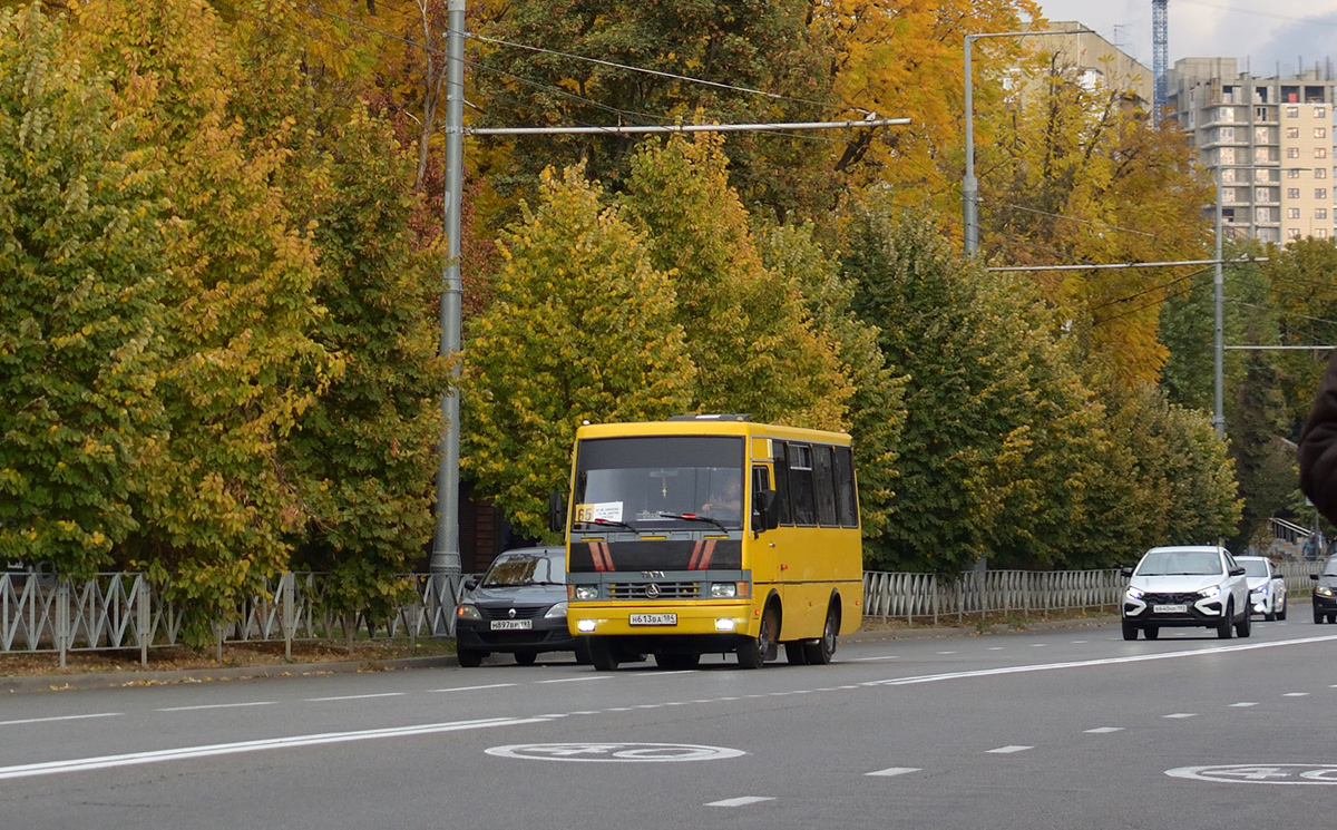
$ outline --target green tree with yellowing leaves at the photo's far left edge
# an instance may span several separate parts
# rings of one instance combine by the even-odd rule
[[[39,5],[0,12],[0,559],[87,579],[138,525],[163,179]]]

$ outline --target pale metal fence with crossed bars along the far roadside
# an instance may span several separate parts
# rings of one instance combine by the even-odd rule
[[[1321,563],[1282,561],[1277,565],[1292,593],[1306,592],[1309,575]],[[461,576],[413,573],[412,600],[384,619],[338,613],[329,601],[326,573],[285,573],[265,583],[215,624],[219,650],[225,643],[283,643],[291,658],[294,642],[453,636],[455,605]],[[1118,608],[1127,585],[1118,569],[1107,571],[981,571],[944,579],[932,573],[864,573],[864,616],[909,623],[967,615],[1048,615],[1051,611]],[[35,572],[0,573],[0,654],[59,652],[60,664],[72,651],[148,650],[180,646],[185,613],[164,601],[142,573],[99,573],[74,585]]]

